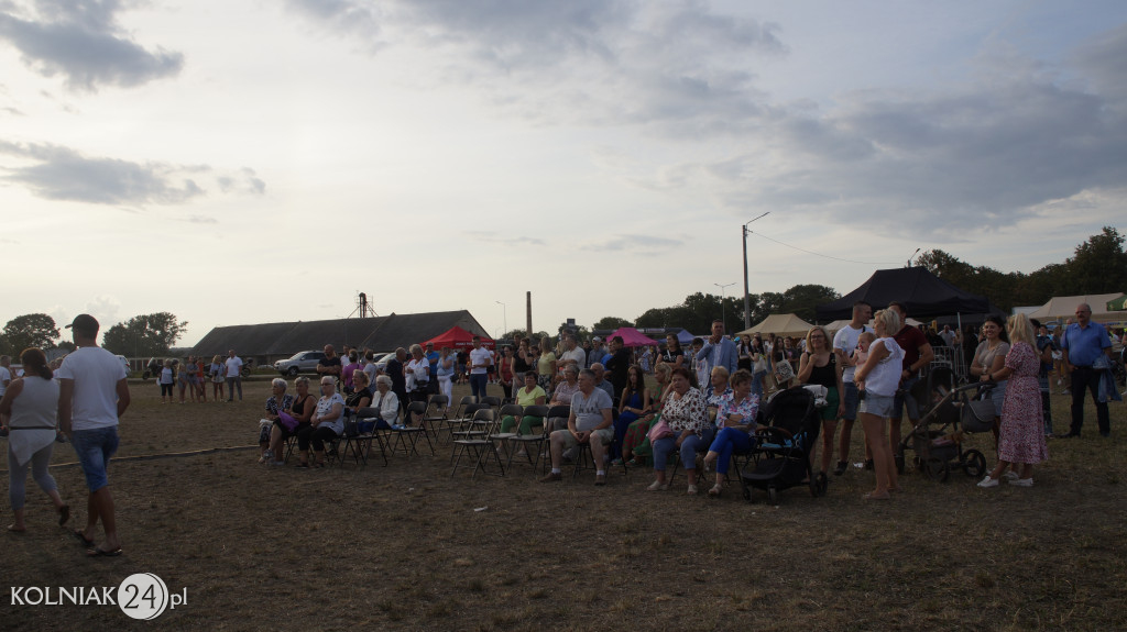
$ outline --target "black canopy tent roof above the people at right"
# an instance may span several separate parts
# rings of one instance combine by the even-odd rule
[[[926,268],[877,270],[861,287],[842,298],[817,306],[818,320],[841,320],[853,317],[853,304],[863,300],[873,309],[888,307],[896,300],[915,319],[955,314],[996,312],[986,297],[960,290]]]

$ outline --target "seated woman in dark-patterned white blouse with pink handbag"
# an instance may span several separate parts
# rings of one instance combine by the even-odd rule
[[[689,477],[689,494],[696,494],[696,449],[704,451],[712,443],[715,426],[704,412],[704,395],[691,386],[692,373],[681,367],[673,370],[671,390],[662,407],[662,418],[650,431],[654,444],[654,482],[650,491],[669,488],[665,466],[669,453],[680,450],[681,463]],[[663,427],[666,428],[663,431]]]

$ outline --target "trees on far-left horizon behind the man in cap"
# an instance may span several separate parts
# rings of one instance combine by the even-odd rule
[[[187,326],[187,320],[177,320],[168,312],[142,314],[103,329],[101,346],[131,358],[167,355]],[[55,319],[47,314],[17,316],[0,332],[0,353],[15,356],[30,346],[73,351],[74,344],[60,341],[60,335]]]

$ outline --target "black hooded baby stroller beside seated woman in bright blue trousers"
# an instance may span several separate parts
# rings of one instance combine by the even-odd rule
[[[752,488],[763,489],[767,502],[779,504],[779,491],[807,485],[810,495],[825,496],[825,472],[814,475],[810,450],[822,430],[822,418],[814,406],[814,394],[802,387],[780,391],[760,410],[761,427],[755,432],[752,452],[739,470],[744,499],[752,502]]]

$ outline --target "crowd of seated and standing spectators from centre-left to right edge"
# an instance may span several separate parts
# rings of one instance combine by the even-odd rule
[[[1101,353],[1108,350],[1111,359],[1111,338],[1085,314],[1090,310],[1077,309],[1077,323],[1062,327],[1054,340],[1046,327],[1021,315],[1008,322],[990,317],[980,327],[962,331],[950,326],[937,329],[908,325],[903,304],[893,303],[873,314],[869,305],[859,303],[852,319],[834,335],[815,326],[805,337],[729,336],[724,323],[717,320],[712,335],[695,338],[686,347],[674,335],[664,345],[631,350],[623,346],[621,338],[594,337],[579,343],[574,335],[565,334],[558,344],[548,337],[517,337],[495,353],[476,340],[464,360],[447,347],[435,352],[414,345],[398,350],[396,360],[387,365],[373,367],[365,362],[365,355],[370,361],[371,354],[346,350],[346,363],[319,365],[318,371],[330,378],[322,381],[325,406],[326,398],[335,392],[332,383],[338,382],[347,398],[338,407],[326,409],[330,428],[337,427],[346,409],[356,412],[373,400],[373,392],[365,388],[371,380],[355,379],[364,372],[385,379],[388,394],[400,407],[425,399],[427,394],[449,395],[451,385],[460,379],[469,381],[478,397],[486,394],[488,385],[499,383],[504,399],[522,407],[570,406],[568,418],[525,415],[502,419],[502,433],[545,433],[544,457],[550,471],[542,478],[544,482],[560,480],[564,463],[575,458],[579,446],[591,445],[596,485],[605,482],[607,466],[624,464],[651,468],[649,489],[667,489],[666,472],[677,460],[686,471],[689,494],[698,493],[699,468],[715,475],[708,490],[712,496],[722,494],[733,455],[746,454],[754,448],[757,413],[766,398],[793,386],[817,386],[823,388],[818,409],[823,426],[818,445],[810,450],[811,461],[820,466],[820,471],[845,473],[851,462],[853,424],[860,421],[866,436],[863,463],[873,470],[876,479],[866,498],[877,500],[900,489],[902,421],[906,415],[912,424],[919,422],[921,406],[911,396],[912,387],[926,374],[940,346],[973,346],[967,353],[971,358],[967,379],[985,382],[985,397],[994,403],[999,466],[984,486],[992,486],[990,481],[1003,472],[1013,485],[1031,486],[1032,467],[1047,459],[1045,440],[1053,436],[1046,385],[1055,360],[1059,356],[1065,362],[1073,390],[1083,391],[1095,388],[1089,385],[1097,385],[1097,380],[1090,378],[1094,359],[1080,347],[1091,344],[1086,336],[1097,327],[1099,334],[1092,340],[1107,342],[1099,349]],[[1084,337],[1074,328],[1082,329]],[[335,356],[331,347],[326,347],[326,354]],[[647,385],[647,376],[653,376],[655,387]],[[284,381],[281,388],[284,391]],[[366,395],[353,399],[356,392]],[[1030,392],[1038,396],[1030,397]],[[302,432],[286,428],[278,419],[276,410],[285,406],[276,397],[266,406],[264,424],[272,430],[267,432],[264,425],[260,437],[264,462],[279,462],[276,458],[270,461],[278,454],[279,436]],[[380,407],[387,408],[390,398],[379,399]],[[1101,433],[1109,432],[1106,404],[1098,401],[1097,409]],[[1063,436],[1079,433],[1082,421],[1076,410],[1074,407],[1075,431]],[[1081,415],[1082,410],[1081,400]],[[1036,421],[1037,432],[1029,430],[1031,419]],[[393,421],[389,418],[388,423]],[[299,424],[321,425],[304,417]],[[321,436],[329,434],[322,432]],[[318,446],[313,449],[316,453]],[[300,466],[307,462],[305,451],[302,443]],[[320,462],[320,458],[314,459],[314,467]]]

